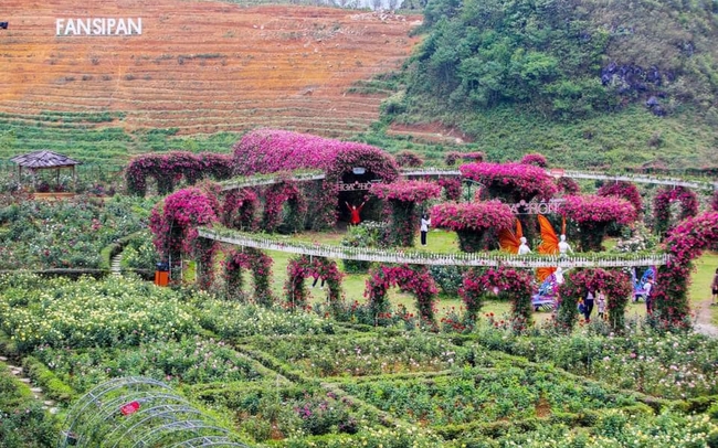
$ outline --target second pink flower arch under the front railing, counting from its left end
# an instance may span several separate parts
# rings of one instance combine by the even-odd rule
[[[286,302],[291,308],[307,306],[307,288],[304,285],[304,279],[307,277],[318,277],[325,280],[331,308],[337,309],[339,306],[342,274],[332,259],[306,255],[292,258],[287,266],[287,274],[284,290],[286,291]]]

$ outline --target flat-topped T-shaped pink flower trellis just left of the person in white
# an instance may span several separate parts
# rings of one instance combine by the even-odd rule
[[[424,181],[399,181],[371,185],[370,193],[391,205],[391,237],[393,245],[411,247],[419,230],[416,204],[441,195],[441,186]]]

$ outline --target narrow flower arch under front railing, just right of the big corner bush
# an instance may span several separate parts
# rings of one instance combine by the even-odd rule
[[[226,254],[222,263],[226,285],[226,296],[234,299],[243,297],[242,268],[250,269],[254,279],[254,301],[260,305],[272,305],[270,279],[272,278],[272,257],[252,247],[233,249]]]

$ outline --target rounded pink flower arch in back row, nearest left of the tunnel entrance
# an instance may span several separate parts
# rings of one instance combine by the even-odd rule
[[[281,182],[270,185],[264,191],[264,213],[262,216],[262,228],[265,232],[274,232],[282,224],[282,211],[284,204],[289,207],[289,215],[285,224],[291,233],[304,230],[304,220],[307,215],[307,202],[296,182]]]

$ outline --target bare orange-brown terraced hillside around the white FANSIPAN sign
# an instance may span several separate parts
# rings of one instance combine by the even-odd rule
[[[3,0],[1,14],[6,124],[330,137],[377,119],[386,94],[349,87],[398,67],[421,19],[199,0]],[[56,19],[76,18],[141,18],[142,33],[55,35]]]

